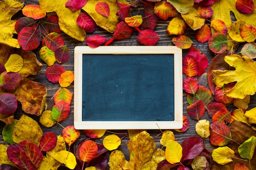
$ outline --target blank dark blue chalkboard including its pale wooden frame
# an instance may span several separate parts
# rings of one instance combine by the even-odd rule
[[[182,53],[174,46],[75,48],[77,129],[182,127]]]

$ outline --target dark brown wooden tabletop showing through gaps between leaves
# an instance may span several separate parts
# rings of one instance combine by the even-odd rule
[[[29,4],[39,4],[39,2],[37,0],[28,0]],[[137,13],[141,13],[143,12],[143,9],[138,9],[138,8],[132,8],[131,9],[131,13],[132,15],[137,15]],[[155,31],[159,34],[160,39],[157,42],[157,44],[155,44],[156,46],[173,46],[174,44],[172,43],[172,38],[173,35],[168,35],[167,33],[167,26],[168,23],[170,22],[171,18],[169,18],[168,20],[164,21],[164,20],[159,20],[159,22],[157,23],[157,26],[155,28]],[[207,23],[209,24],[209,23]],[[215,54],[209,50],[208,47],[208,43],[199,43],[196,39],[195,39],[195,33],[196,31],[193,31],[189,28],[189,26],[187,26],[187,29],[184,33],[184,35],[188,36],[189,38],[191,38],[191,40],[193,41],[193,46],[197,49],[200,49],[200,51],[202,51],[202,53],[204,53],[209,61],[209,64],[211,62],[211,60],[213,59],[213,57],[215,56]],[[103,29],[101,29],[100,27],[97,26],[97,29],[93,32],[93,33],[88,33],[87,36],[91,36],[91,35],[101,35],[103,37],[106,38],[112,38],[112,33],[109,33]],[[64,38],[65,44],[69,47],[70,49],[70,58],[67,62],[65,62],[64,64],[62,64],[62,66],[64,66],[64,68],[66,70],[70,70],[70,71],[74,71],[74,47],[75,46],[86,46],[85,41],[80,42],[78,40],[75,40],[73,38],[70,38],[68,35],[66,35],[65,33],[61,33],[61,36]],[[142,44],[140,44],[137,41],[137,36],[138,36],[138,32],[136,30],[133,31],[132,36],[128,39],[125,40],[114,40],[110,45],[111,46],[116,46],[116,48],[118,48],[118,46],[141,46]],[[240,51],[241,49],[241,45],[238,47],[237,51]],[[43,62],[43,60],[41,60],[39,58],[39,51],[40,48],[34,50],[33,52],[36,54],[38,60],[43,64],[43,68],[41,70],[40,73],[38,73],[35,76],[31,76],[31,79],[33,79],[34,81],[43,83],[47,86],[47,102],[48,102],[48,108],[47,110],[51,110],[51,107],[54,105],[53,103],[53,99],[51,99],[53,97],[53,95],[55,94],[55,92],[58,90],[59,88],[59,84],[53,84],[51,82],[49,82],[46,77],[45,74],[43,74],[47,68],[47,65],[45,64],[45,62]],[[182,50],[182,56],[186,56],[188,53],[188,50]],[[204,75],[202,75],[199,78],[200,81],[200,85],[202,86],[206,86],[208,87],[208,82],[207,82],[207,73],[204,73]],[[74,93],[74,83],[72,83],[72,85],[70,87],[68,87],[68,89]],[[76,96],[76,94],[74,94],[74,97]],[[213,96],[212,96],[212,102],[213,102]],[[190,127],[186,132],[176,132],[175,130],[173,130],[174,134],[175,134],[175,140],[177,142],[179,142],[180,144],[182,144],[182,141],[188,137],[191,136],[198,136],[195,132],[195,124],[197,123],[197,121],[192,120],[187,111],[186,108],[188,106],[188,103],[186,101],[186,93],[183,92],[183,115],[186,115],[189,118],[189,122],[190,122]],[[249,108],[254,108],[256,107],[256,97],[255,95],[251,97],[251,103],[249,104]],[[234,106],[227,106],[228,110],[231,111],[232,109],[235,109]],[[21,105],[18,105],[18,110],[15,113],[15,119],[19,119],[20,116],[22,114],[25,114],[23,110],[21,110]],[[35,116],[35,115],[29,115],[30,117],[32,117],[34,120],[36,120],[39,123],[39,117]],[[73,124],[73,118],[74,118],[74,102],[72,102],[71,104],[71,110],[70,110],[70,114],[68,119],[66,119],[65,121],[60,122],[61,125],[68,126],[68,125],[72,125]],[[210,117],[208,116],[207,112],[204,113],[204,116],[202,117],[202,119],[207,119],[210,121],[210,124],[212,123]],[[6,144],[3,140],[2,137],[2,129],[4,127],[4,123],[0,122],[0,144]],[[41,125],[40,125],[41,126]],[[63,130],[63,128],[59,125],[55,125],[52,128],[45,128],[43,126],[41,126],[43,132],[55,132],[56,135],[61,135],[61,132]],[[164,129],[162,129],[164,130]],[[115,132],[127,132],[127,130],[114,130]],[[148,133],[154,137],[156,145],[158,148],[161,148],[162,146],[159,143],[159,140],[161,139],[161,135],[159,135],[161,133],[160,130],[148,130]],[[100,142],[102,143],[103,138],[106,135],[109,135],[109,132],[106,132],[106,134],[101,137],[100,139],[95,139],[94,141],[96,142]],[[159,136],[157,136],[159,135]],[[79,140],[86,138],[85,134],[83,133],[83,131],[81,131],[81,137],[79,138]],[[127,143],[128,142],[128,137],[125,137],[122,140],[122,143]],[[210,144],[209,142],[209,138],[205,139],[205,148],[207,148],[209,151],[212,151],[215,147]],[[129,160],[129,153],[127,150],[127,145],[122,145],[120,146],[118,149],[122,150],[125,155],[126,158]],[[59,168],[61,169],[61,168]]]

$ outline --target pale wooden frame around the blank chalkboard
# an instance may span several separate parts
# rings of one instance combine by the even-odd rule
[[[83,121],[82,71],[83,54],[173,54],[174,55],[174,121]],[[74,127],[76,129],[180,129],[183,123],[182,49],[176,46],[76,46],[74,49]],[[159,114],[159,117],[161,115]]]

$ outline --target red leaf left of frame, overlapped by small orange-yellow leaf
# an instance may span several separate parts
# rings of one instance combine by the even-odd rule
[[[65,68],[60,64],[54,64],[46,69],[45,75],[50,82],[58,83],[58,79],[60,79],[61,74],[65,71]]]

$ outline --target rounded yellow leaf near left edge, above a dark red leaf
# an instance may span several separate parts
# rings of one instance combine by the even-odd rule
[[[7,72],[17,73],[23,67],[23,59],[18,54],[11,54],[4,67]]]

